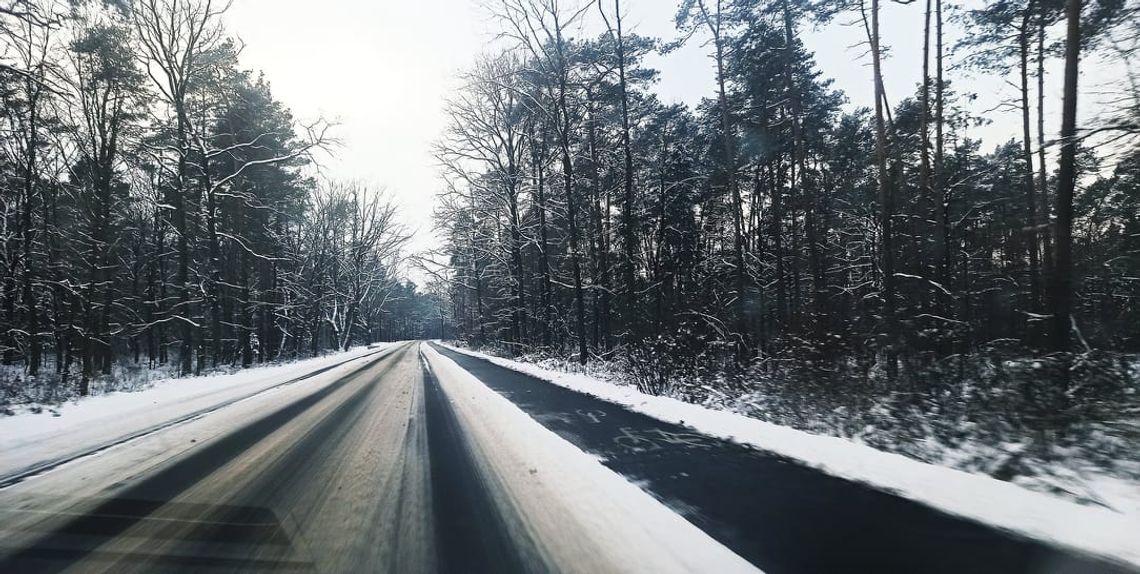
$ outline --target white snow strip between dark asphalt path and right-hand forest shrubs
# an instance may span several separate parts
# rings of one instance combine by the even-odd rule
[[[625,405],[660,420],[710,436],[798,460],[833,476],[891,492],[943,511],[1051,541],[1076,551],[1140,566],[1140,512],[1081,506],[1012,483],[882,452],[848,440],[821,436],[727,411],[716,411],[596,378],[552,371],[498,356],[445,345],[536,378]],[[504,399],[505,401],[505,399]],[[1116,484],[1116,489],[1127,485]],[[1122,493],[1117,492],[1119,497]],[[1140,500],[1140,492],[1132,498]],[[1130,509],[1140,509],[1133,505]]]

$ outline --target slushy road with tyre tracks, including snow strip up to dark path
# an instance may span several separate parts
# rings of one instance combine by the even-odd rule
[[[0,487],[0,572],[755,572],[426,345],[351,359],[74,426],[113,445]]]

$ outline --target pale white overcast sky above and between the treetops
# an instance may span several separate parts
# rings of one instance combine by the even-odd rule
[[[626,25],[642,35],[671,40],[676,5],[624,0]],[[897,102],[913,93],[921,79],[923,2],[883,5],[883,44],[890,50],[883,74],[887,95]],[[595,10],[588,19],[598,25]],[[405,221],[418,231],[412,248],[435,246],[431,210],[440,183],[431,144],[445,128],[443,102],[457,88],[458,72],[494,41],[496,27],[480,0],[236,0],[227,23],[245,42],[242,64],[264,72],[275,96],[295,116],[340,123],[336,137],[342,146],[323,162],[325,174],[386,187]],[[955,32],[947,24],[947,48]],[[840,20],[806,38],[824,76],[834,79],[850,106],[871,105],[870,68],[865,50],[856,46],[863,30]],[[708,47],[694,39],[667,57],[649,58],[646,64],[661,72],[661,99],[693,105],[711,97],[715,82],[707,55]],[[1049,79],[1047,106],[1058,101],[1059,76]],[[963,77],[947,69],[947,79],[960,90],[984,95],[975,106],[977,114],[1013,93],[1002,77]],[[1017,133],[1017,110],[986,115],[994,123],[974,136],[987,146]]]

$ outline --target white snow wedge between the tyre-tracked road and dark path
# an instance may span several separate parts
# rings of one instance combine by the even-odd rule
[[[432,372],[489,486],[560,572],[757,572],[597,459],[536,423],[430,345]]]

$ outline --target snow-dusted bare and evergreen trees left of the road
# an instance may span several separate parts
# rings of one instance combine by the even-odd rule
[[[378,341],[415,295],[394,207],[308,175],[329,126],[238,67],[226,6],[0,2],[7,394]]]

